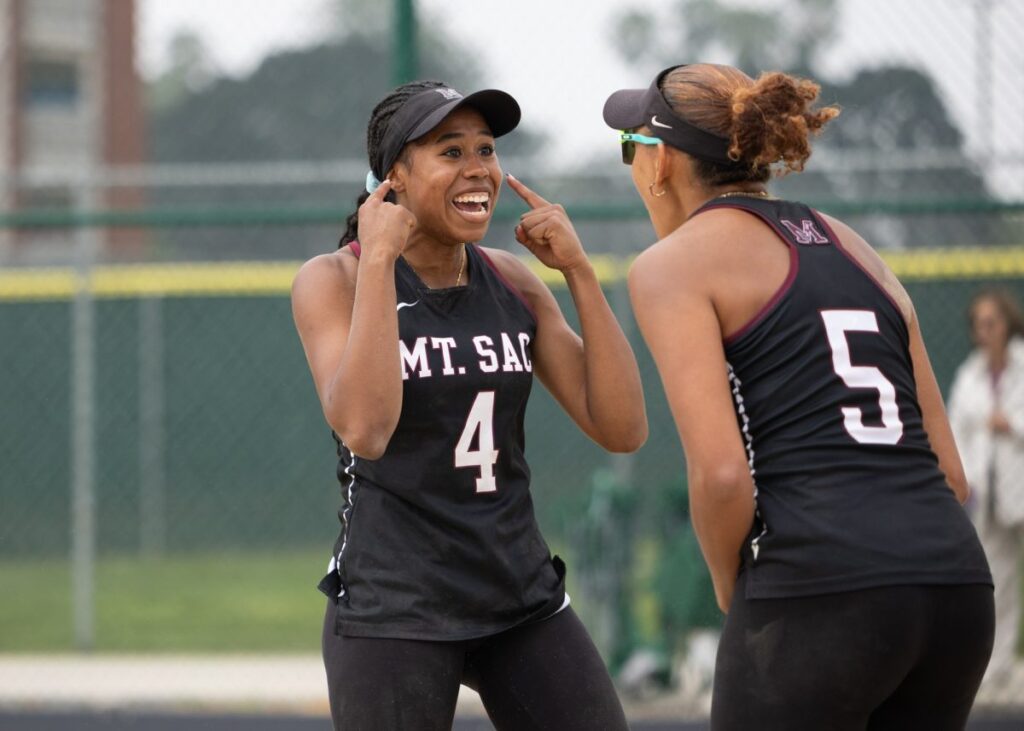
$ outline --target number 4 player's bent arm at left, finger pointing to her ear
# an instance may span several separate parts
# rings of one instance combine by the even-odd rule
[[[384,202],[385,181],[359,208],[362,247],[306,262],[292,285],[295,327],[328,424],[359,457],[387,448],[401,413],[394,263],[415,217]],[[356,275],[357,272],[357,275]]]

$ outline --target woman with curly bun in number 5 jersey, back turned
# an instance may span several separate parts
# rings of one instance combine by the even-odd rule
[[[712,728],[963,728],[992,584],[913,306],[842,221],[773,198],[818,86],[668,69],[604,119],[660,239],[630,272],[727,613]]]

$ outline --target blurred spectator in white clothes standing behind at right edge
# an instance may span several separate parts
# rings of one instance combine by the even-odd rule
[[[995,644],[985,684],[1013,666],[1024,542],[1024,316],[1010,293],[982,290],[968,308],[975,350],[959,367],[949,421],[973,490],[975,524],[995,582]]]

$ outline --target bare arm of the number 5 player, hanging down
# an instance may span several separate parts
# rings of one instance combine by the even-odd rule
[[[690,516],[727,612],[754,522],[754,481],[736,426],[722,330],[700,266],[684,247],[655,247],[630,270],[630,297],[686,453]]]

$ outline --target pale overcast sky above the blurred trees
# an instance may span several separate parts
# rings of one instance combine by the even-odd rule
[[[380,0],[384,2],[386,0]],[[732,0],[778,5],[783,0]],[[979,112],[976,63],[978,0],[843,0],[840,37],[822,59],[822,72],[848,77],[863,67],[894,61],[928,70],[966,132],[981,149],[993,125],[996,146],[1024,156],[1024,0],[991,3],[990,92],[995,107]],[[267,53],[323,37],[327,0],[139,0],[139,56],[143,73],[166,62],[167,42],[190,28],[207,42],[225,72],[242,75]],[[556,155],[570,159],[610,144],[601,122],[607,94],[646,86],[656,68],[623,61],[610,37],[624,7],[666,13],[662,0],[419,0],[420,13],[441,22],[453,38],[475,50],[489,86],[511,92],[534,125],[558,130]],[[240,8],[244,7],[244,20]],[[692,60],[680,49],[680,61]],[[987,121],[987,120],[990,120]],[[564,132],[563,132],[564,130]],[[1021,170],[1020,167],[1017,170]],[[1024,193],[1024,175],[1020,175]]]

